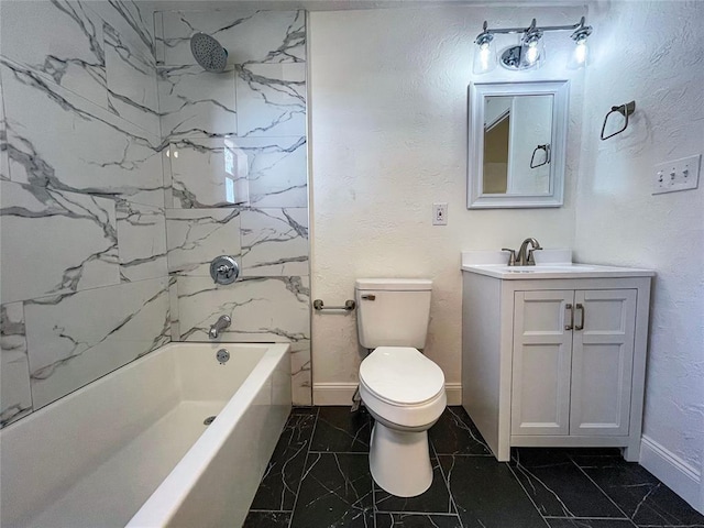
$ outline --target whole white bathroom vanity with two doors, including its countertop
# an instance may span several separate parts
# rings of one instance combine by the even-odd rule
[[[463,266],[462,405],[496,458],[623,447],[638,460],[652,272],[491,267]]]

